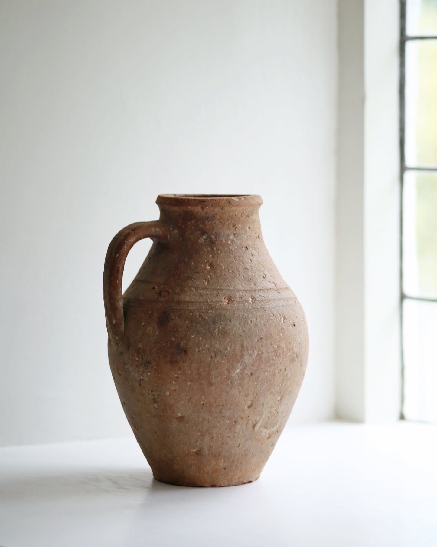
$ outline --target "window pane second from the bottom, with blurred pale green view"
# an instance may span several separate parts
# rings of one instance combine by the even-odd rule
[[[437,298],[437,173],[405,173],[403,200],[404,292]]]

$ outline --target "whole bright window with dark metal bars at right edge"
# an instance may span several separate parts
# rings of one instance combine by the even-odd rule
[[[403,415],[437,422],[437,0],[401,0]]]

